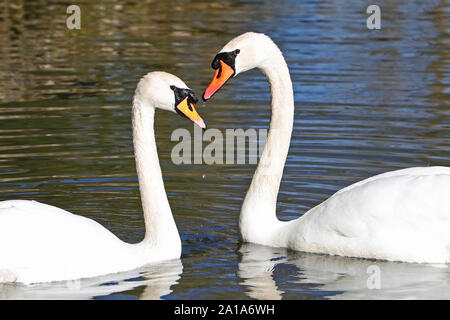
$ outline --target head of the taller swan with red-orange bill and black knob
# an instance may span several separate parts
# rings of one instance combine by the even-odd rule
[[[203,100],[211,98],[228,80],[239,73],[263,66],[269,56],[268,52],[274,48],[277,47],[273,41],[262,33],[247,32],[232,39],[211,63],[216,72],[203,93]]]

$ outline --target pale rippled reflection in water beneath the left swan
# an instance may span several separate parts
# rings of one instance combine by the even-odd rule
[[[81,300],[119,294],[124,299],[127,291],[145,287],[141,293],[133,292],[130,297],[140,300],[159,300],[172,293],[172,286],[178,284],[183,272],[181,260],[168,260],[144,266],[135,270],[114,273],[74,281],[59,281],[23,285],[19,283],[0,284],[0,299],[64,299]]]

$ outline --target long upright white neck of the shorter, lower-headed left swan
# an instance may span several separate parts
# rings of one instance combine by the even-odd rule
[[[133,99],[133,145],[145,220],[144,244],[181,247],[164,188],[154,133],[155,108],[136,94]],[[162,248],[163,249],[163,248]],[[173,250],[171,250],[173,251]]]

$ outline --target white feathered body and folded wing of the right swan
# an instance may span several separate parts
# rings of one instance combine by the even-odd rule
[[[409,168],[355,183],[308,211],[296,228],[291,241],[299,250],[447,262],[450,168]]]

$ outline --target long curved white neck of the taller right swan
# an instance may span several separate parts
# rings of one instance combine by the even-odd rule
[[[269,232],[280,224],[276,217],[276,202],[294,122],[294,93],[289,69],[281,51],[272,41],[269,42],[265,48],[261,48],[268,56],[258,68],[266,75],[270,84],[270,128],[240,216],[241,235],[244,240],[252,242],[257,240],[254,237],[258,234],[265,237],[261,231]],[[261,241],[257,242],[264,242]]]

